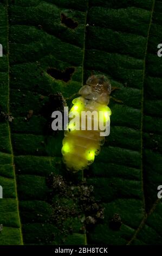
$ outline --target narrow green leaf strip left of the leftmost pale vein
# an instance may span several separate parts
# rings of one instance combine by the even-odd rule
[[[8,54],[8,17],[7,9],[0,5],[0,40],[3,45],[3,58],[0,58],[0,105],[9,112],[9,54]],[[18,212],[14,156],[11,145],[9,124],[0,123],[0,184],[3,187],[3,199],[0,199],[1,245],[21,245],[21,223]]]

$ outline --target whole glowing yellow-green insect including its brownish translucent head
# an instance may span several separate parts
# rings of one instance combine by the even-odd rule
[[[79,129],[74,129],[74,124],[71,124],[69,119],[68,131],[64,132],[62,147],[63,162],[67,169],[73,172],[83,170],[92,164],[95,155],[100,153],[100,146],[105,142],[105,137],[100,133],[99,119],[96,119],[93,113],[95,111],[102,114],[103,123],[108,123],[111,115],[107,106],[111,84],[103,76],[91,76],[86,85],[81,87],[79,94],[81,96],[73,100],[74,106],[69,112],[69,114],[72,112],[80,114],[77,122]],[[90,118],[88,115],[82,115],[84,111],[91,113]],[[99,126],[98,129],[92,129],[92,125],[95,127],[96,124]]]

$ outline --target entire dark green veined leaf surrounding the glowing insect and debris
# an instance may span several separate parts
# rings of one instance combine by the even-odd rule
[[[15,0],[4,1],[0,10],[0,105],[14,117],[10,127],[0,123],[0,244],[20,245],[22,237],[27,245],[85,243],[79,220],[73,218],[72,235],[64,241],[53,236],[59,231],[54,220],[49,221],[46,179],[51,172],[66,173],[61,161],[63,133],[46,141],[41,109],[50,93],[76,93],[92,70],[120,87],[113,96],[124,103],[111,100],[111,134],[84,173],[105,207],[104,221],[88,232],[87,242],[160,244],[162,62],[157,45],[162,1]],[[77,27],[61,23],[61,14]],[[64,82],[51,77],[49,68],[75,70]],[[109,227],[115,213],[122,221],[117,231]]]

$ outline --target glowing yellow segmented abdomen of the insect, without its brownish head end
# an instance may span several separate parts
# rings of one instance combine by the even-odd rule
[[[110,109],[106,105],[102,105],[93,100],[86,100],[83,97],[78,97],[73,100],[74,106],[70,109],[70,112],[77,111],[80,113],[80,130],[74,130],[74,125],[68,124],[68,130],[64,132],[62,155],[63,162],[66,164],[68,170],[77,172],[87,168],[93,163],[95,155],[100,153],[100,146],[105,142],[105,137],[100,136],[101,130],[88,130],[90,127],[87,122],[87,115],[85,117],[85,130],[81,130],[81,111],[102,111],[107,113]],[[69,112],[69,113],[70,113]],[[106,115],[105,121],[109,120],[109,115]],[[70,120],[70,119],[69,119]],[[92,121],[92,127],[94,123],[98,121],[92,116],[89,123]]]

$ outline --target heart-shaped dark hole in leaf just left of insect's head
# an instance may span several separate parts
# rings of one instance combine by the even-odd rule
[[[67,83],[70,80],[74,71],[75,71],[74,68],[67,68],[64,71],[60,71],[60,70],[54,69],[54,68],[49,68],[47,70],[47,74],[56,78],[57,80],[63,80],[64,82]]]

